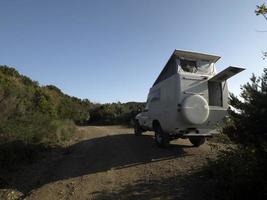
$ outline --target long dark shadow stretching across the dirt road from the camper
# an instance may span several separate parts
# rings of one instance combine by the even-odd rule
[[[79,177],[82,175],[116,170],[135,165],[158,162],[186,156],[186,145],[171,145],[160,149],[150,135],[136,137],[132,133],[112,134],[80,141],[65,151],[53,149],[46,152],[46,160],[14,172],[4,188],[14,188],[23,194],[47,183]],[[1,177],[0,177],[1,178]]]

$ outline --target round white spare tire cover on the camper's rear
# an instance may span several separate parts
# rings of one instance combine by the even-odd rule
[[[182,115],[191,124],[203,124],[209,117],[209,105],[204,97],[194,94],[182,103]]]

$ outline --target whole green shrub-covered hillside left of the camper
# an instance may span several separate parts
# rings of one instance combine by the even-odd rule
[[[40,86],[14,68],[0,66],[1,165],[31,160],[32,152],[40,146],[66,145],[75,124],[129,125],[143,106],[136,102],[93,104],[64,94],[54,85]]]

